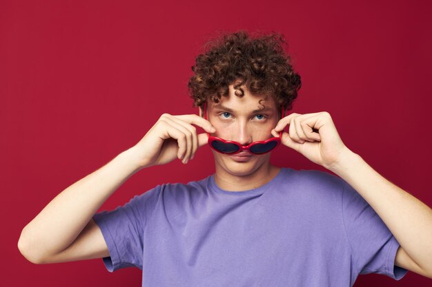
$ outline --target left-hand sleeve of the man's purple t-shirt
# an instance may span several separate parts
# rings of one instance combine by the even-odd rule
[[[103,258],[109,272],[132,266],[142,270],[144,228],[155,209],[158,191],[159,186],[135,195],[124,206],[93,215],[110,253]]]

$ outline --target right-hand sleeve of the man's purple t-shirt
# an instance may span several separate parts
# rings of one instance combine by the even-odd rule
[[[394,264],[399,242],[362,195],[345,181],[342,213],[353,269],[361,275],[377,273],[402,279],[408,270]]]

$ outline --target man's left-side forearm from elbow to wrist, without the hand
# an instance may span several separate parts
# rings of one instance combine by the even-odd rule
[[[110,195],[138,170],[130,149],[120,153],[97,171],[59,193],[23,228],[19,246],[34,257],[63,251]]]

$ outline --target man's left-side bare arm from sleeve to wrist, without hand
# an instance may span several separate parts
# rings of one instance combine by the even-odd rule
[[[91,218],[139,170],[132,156],[130,149],[120,153],[59,193],[23,228],[18,247],[24,257],[41,264],[107,256],[104,237]]]

